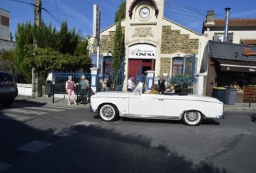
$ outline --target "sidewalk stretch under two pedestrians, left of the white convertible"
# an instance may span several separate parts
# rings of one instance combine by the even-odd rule
[[[15,98],[15,102],[24,102],[26,104],[43,104],[47,106],[56,106],[56,107],[77,107],[77,108],[85,108],[89,109],[90,103],[87,104],[73,104],[73,99],[71,99],[71,106],[68,106],[67,98],[55,98],[53,103],[53,98],[48,97],[39,97],[39,98],[31,98],[26,95],[18,95]]]

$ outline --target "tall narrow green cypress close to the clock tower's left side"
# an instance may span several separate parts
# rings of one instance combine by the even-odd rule
[[[124,35],[122,34],[121,21],[118,21],[116,33],[113,37],[113,60],[111,63],[113,84],[117,84],[121,75],[122,56],[124,53]]]

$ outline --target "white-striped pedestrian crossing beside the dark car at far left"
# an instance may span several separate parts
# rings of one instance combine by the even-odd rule
[[[8,109],[0,109],[0,120],[17,120],[24,121],[32,118],[32,116],[44,116],[48,113],[60,112],[66,110],[72,110],[72,107],[51,107],[51,106],[32,106],[28,104],[21,105],[17,107],[10,107]]]

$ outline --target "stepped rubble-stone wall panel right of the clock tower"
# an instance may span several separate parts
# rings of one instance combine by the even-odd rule
[[[189,39],[190,35],[181,35],[180,30],[171,30],[171,26],[162,27],[161,53],[198,53],[199,39]]]

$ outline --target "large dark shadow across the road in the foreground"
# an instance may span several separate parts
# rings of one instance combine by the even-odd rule
[[[53,141],[55,138],[53,129],[41,131],[15,120],[0,123],[0,137],[7,139],[1,142],[1,148],[13,145],[9,147],[13,149],[10,153],[15,153],[17,143],[24,145],[33,139]],[[120,134],[104,124],[75,125],[72,130],[79,133],[58,137],[53,145],[38,153],[19,156],[6,172],[226,172],[208,162],[195,165],[164,144],[154,146],[150,138]],[[7,156],[8,153],[1,151],[0,162]]]

